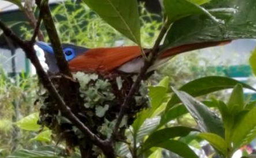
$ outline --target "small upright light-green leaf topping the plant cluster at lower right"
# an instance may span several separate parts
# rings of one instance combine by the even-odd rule
[[[243,86],[237,84],[229,97],[228,108],[229,112],[232,114],[238,114],[238,112],[244,109],[244,99],[243,99]]]

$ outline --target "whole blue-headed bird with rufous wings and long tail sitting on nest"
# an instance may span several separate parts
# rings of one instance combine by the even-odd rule
[[[182,52],[206,47],[222,46],[230,42],[231,40],[202,42],[183,44],[181,46],[169,48],[159,55],[154,65],[149,68],[148,72],[152,72],[159,64],[168,61],[170,57]],[[47,55],[50,55],[49,72],[58,73],[59,70],[51,44],[40,41],[35,44],[47,53]],[[87,48],[76,46],[74,44],[62,44],[62,50],[66,61],[68,61],[68,66],[71,72],[97,73],[103,75],[116,72],[136,74],[139,73],[144,66],[144,58],[139,46]],[[148,55],[149,52],[150,49],[144,49],[146,55]]]

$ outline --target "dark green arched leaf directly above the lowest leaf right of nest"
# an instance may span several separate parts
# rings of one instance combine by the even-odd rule
[[[147,138],[147,140],[143,143],[143,151],[146,151],[147,149],[150,149],[161,142],[169,140],[170,138],[187,136],[187,134],[189,134],[191,131],[197,130],[189,127],[176,126],[155,131],[154,133],[150,134],[149,138]]]

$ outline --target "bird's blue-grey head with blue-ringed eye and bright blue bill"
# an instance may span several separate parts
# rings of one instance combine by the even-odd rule
[[[44,52],[54,55],[53,47],[50,44],[44,42],[36,42],[36,45],[40,47]],[[62,44],[62,49],[66,58],[66,61],[71,61],[76,58],[77,55],[84,54],[88,48],[75,46],[73,44]]]

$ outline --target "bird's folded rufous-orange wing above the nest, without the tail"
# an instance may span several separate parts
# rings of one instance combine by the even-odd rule
[[[69,62],[72,72],[109,73],[141,55],[140,47],[93,48]]]

